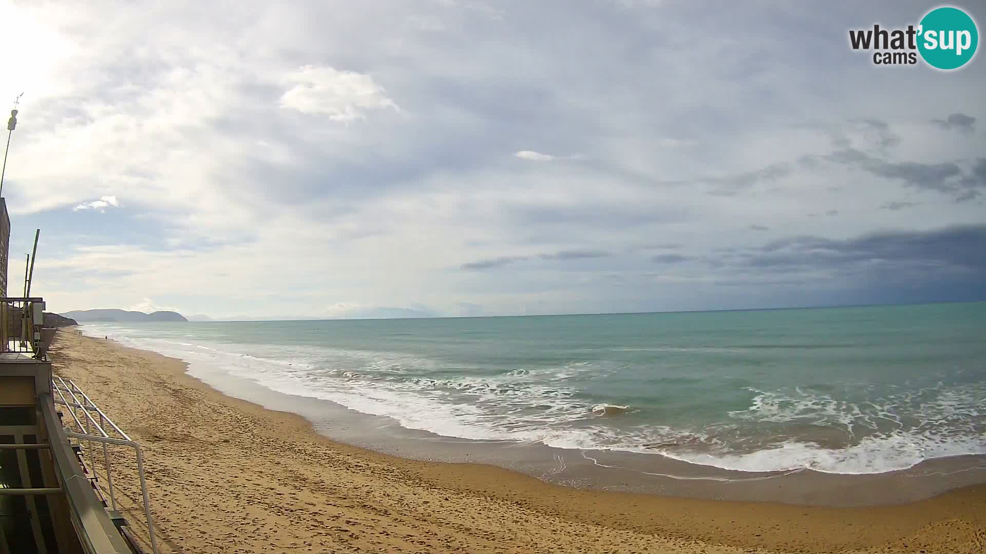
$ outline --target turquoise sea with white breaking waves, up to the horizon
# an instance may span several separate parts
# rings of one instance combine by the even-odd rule
[[[986,453],[986,303],[84,328],[448,437],[742,471]]]

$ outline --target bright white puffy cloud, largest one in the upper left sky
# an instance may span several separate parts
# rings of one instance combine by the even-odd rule
[[[306,65],[285,81],[294,87],[281,96],[281,107],[325,114],[334,121],[362,119],[371,109],[398,109],[372,77],[353,71]]]

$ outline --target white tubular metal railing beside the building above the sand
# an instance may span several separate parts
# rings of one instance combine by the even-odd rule
[[[114,512],[116,511],[116,494],[113,487],[113,475],[109,465],[107,446],[129,447],[136,451],[137,475],[140,478],[140,492],[143,497],[144,516],[147,518],[147,531],[150,537],[151,550],[154,551],[154,554],[158,554],[158,542],[154,534],[154,519],[151,517],[151,503],[147,495],[147,481],[144,478],[144,453],[140,449],[140,445],[130,439],[119,426],[113,423],[113,420],[109,419],[109,416],[74,381],[68,380],[66,382],[62,378],[55,376],[51,380],[51,388],[52,392],[57,394],[57,397],[54,398],[55,404],[69,408],[67,411],[71,415],[71,421],[65,426],[65,435],[72,439],[90,443],[88,449],[88,458],[90,460],[95,459],[93,456],[93,447],[95,445],[92,443],[103,446],[103,467],[106,470],[106,486],[109,493],[111,510]],[[99,416],[99,420],[93,416],[94,413]],[[80,415],[82,416],[81,419]],[[106,432],[106,425],[108,425],[110,433]],[[73,428],[78,431],[73,431]],[[110,434],[115,436],[110,436]],[[86,456],[83,457],[85,458]],[[82,464],[87,472],[92,472],[94,478],[99,478],[95,464],[90,463],[89,466],[86,466],[85,461]],[[96,488],[95,484],[94,488]],[[97,491],[99,491],[98,488]]]

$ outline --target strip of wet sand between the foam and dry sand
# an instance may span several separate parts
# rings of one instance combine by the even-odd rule
[[[330,400],[272,390],[205,364],[183,362],[192,378],[227,396],[298,414],[332,441],[404,459],[487,463],[578,489],[710,500],[769,500],[795,506],[866,507],[904,504],[986,483],[986,456],[977,454],[933,458],[882,473],[810,469],[746,472],[656,453],[446,437],[408,429],[387,416],[366,414]]]

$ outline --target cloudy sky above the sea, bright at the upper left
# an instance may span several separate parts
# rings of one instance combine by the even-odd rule
[[[986,59],[849,47],[936,5],[2,3],[8,294],[40,229],[54,312],[986,300]]]

